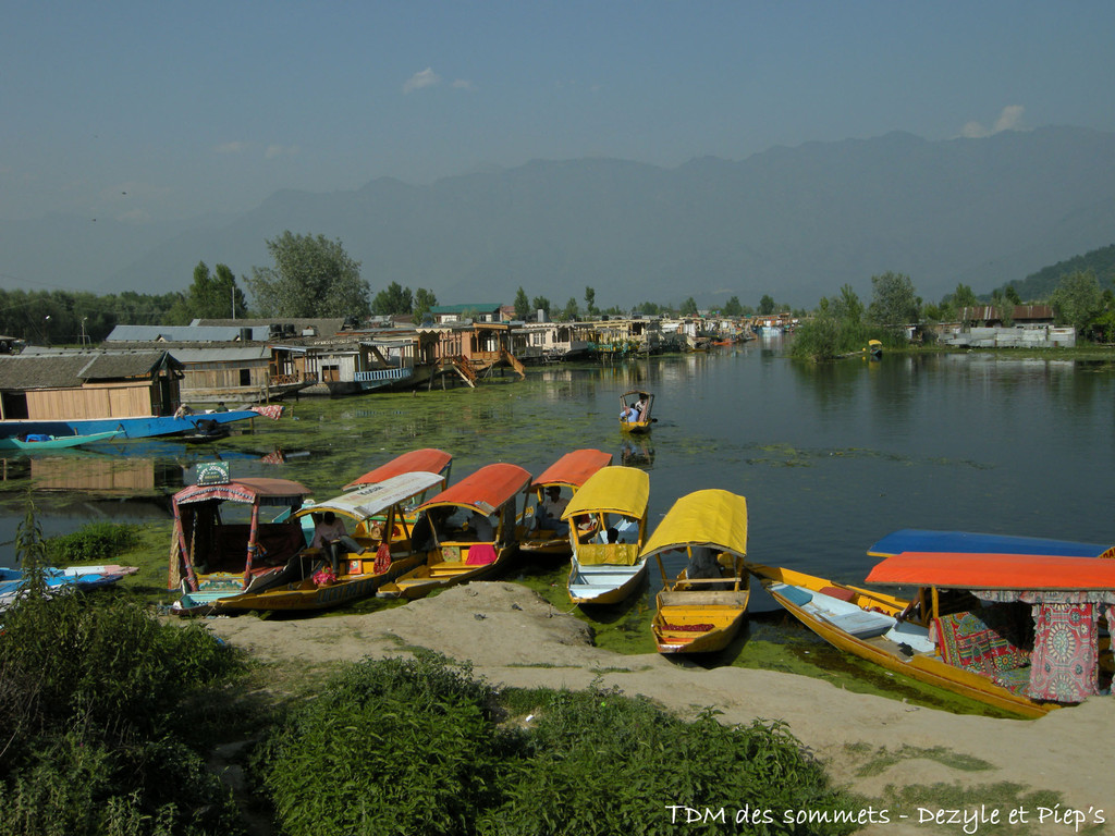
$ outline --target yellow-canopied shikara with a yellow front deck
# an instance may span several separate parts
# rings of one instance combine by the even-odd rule
[[[688,564],[668,580],[663,554]],[[642,547],[662,573],[656,597],[655,643],[659,653],[707,653],[727,647],[747,616],[750,575],[747,500],[727,490],[698,490],[678,499]]]

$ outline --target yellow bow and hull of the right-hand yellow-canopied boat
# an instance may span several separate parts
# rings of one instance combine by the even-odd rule
[[[739,634],[750,590],[662,590],[651,630],[659,653],[712,653]]]

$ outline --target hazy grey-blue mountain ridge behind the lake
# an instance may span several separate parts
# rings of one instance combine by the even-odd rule
[[[237,275],[270,264],[265,241],[290,230],[340,239],[374,292],[394,281],[446,304],[510,302],[518,286],[562,304],[592,286],[601,307],[690,295],[754,305],[764,293],[812,307],[844,283],[870,294],[888,270],[935,301],[958,282],[986,292],[1111,244],[1113,163],[1115,134],[1072,127],[943,142],[892,133],[676,168],[534,161],[430,186],[277,192],[231,220],[148,239],[98,220],[97,237],[117,242],[107,252],[71,218],[0,222],[0,281],[185,290],[198,261]]]

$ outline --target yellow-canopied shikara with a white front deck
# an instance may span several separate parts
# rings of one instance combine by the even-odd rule
[[[640,557],[647,534],[650,477],[646,470],[610,466],[576,492],[562,519],[573,551],[569,597],[574,604],[614,604],[630,595],[647,573]],[[614,533],[614,542],[609,542]]]

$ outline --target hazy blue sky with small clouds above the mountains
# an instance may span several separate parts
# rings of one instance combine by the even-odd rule
[[[532,158],[1115,130],[1115,2],[0,6],[0,217],[176,218]]]

